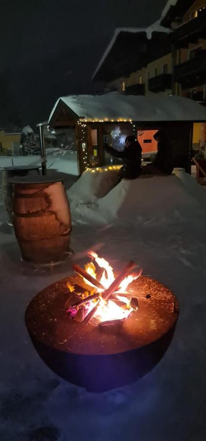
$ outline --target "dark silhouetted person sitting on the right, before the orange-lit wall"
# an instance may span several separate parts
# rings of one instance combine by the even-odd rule
[[[174,155],[171,144],[167,141],[162,131],[154,135],[158,143],[158,151],[154,162],[142,167],[141,174],[172,174],[174,168]]]

